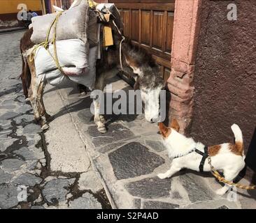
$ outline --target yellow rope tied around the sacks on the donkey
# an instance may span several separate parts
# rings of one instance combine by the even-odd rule
[[[44,47],[48,53],[50,54],[50,56],[52,57],[52,59],[55,61],[57,68],[59,69],[60,72],[62,72],[63,75],[65,75],[64,71],[62,70],[62,67],[59,64],[59,59],[57,56],[57,47],[56,47],[56,35],[57,35],[57,22],[59,20],[59,17],[62,15],[62,12],[57,13],[55,20],[52,21],[52,24],[50,24],[50,27],[48,29],[47,35],[46,35],[46,39],[43,43],[40,43],[38,45],[35,45],[32,49],[31,54],[29,55],[29,61],[33,61],[35,54],[36,54],[36,50],[38,49],[38,47]],[[49,37],[50,37],[50,31],[52,30],[52,26],[54,26],[54,31],[53,31],[53,37],[52,37],[52,45],[54,47],[54,54],[55,56],[52,56],[52,54],[50,53],[49,50]]]

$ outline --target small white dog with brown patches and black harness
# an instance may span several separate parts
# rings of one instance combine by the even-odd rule
[[[245,162],[242,132],[236,124],[233,124],[231,128],[234,132],[235,144],[226,143],[207,148],[200,142],[195,142],[192,138],[178,133],[179,125],[175,119],[171,122],[170,127],[166,127],[164,123],[159,123],[164,145],[168,150],[169,157],[173,157],[173,162],[169,171],[157,176],[161,179],[169,178],[183,168],[195,171],[211,171],[206,160],[210,156],[213,167],[223,171],[226,180],[234,180],[245,167]],[[229,185],[220,188],[216,193],[223,195],[227,190],[229,190]]]

